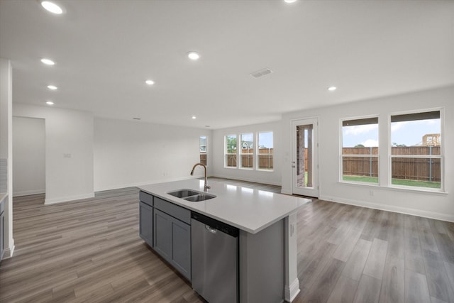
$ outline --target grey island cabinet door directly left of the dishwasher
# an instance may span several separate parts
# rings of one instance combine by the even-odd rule
[[[191,226],[172,218],[172,263],[191,280]]]

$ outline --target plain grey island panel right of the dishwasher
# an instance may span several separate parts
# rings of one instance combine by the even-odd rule
[[[284,301],[284,219],[259,233],[240,231],[240,303]]]

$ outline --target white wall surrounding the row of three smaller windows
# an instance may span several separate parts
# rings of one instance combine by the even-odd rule
[[[263,170],[244,170],[239,168],[224,167],[224,136],[240,133],[257,133],[262,131],[273,132],[273,171]],[[281,163],[282,163],[282,123],[261,123],[249,126],[238,126],[232,128],[221,128],[213,131],[213,170],[212,175],[215,177],[225,177],[231,179],[245,180],[250,182],[262,182],[265,184],[280,185]]]

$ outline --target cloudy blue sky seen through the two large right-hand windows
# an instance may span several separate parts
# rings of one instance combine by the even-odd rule
[[[406,146],[421,145],[423,136],[440,133],[440,119],[403,121],[391,123],[391,143]],[[378,124],[362,126],[343,126],[343,147],[362,144],[367,147],[378,146]]]

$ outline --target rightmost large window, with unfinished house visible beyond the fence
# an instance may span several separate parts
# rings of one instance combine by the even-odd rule
[[[391,116],[391,184],[441,189],[440,111]]]

